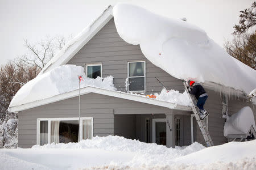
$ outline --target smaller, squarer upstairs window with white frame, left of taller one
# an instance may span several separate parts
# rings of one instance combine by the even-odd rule
[[[97,76],[102,77],[102,63],[98,64],[87,64],[86,65],[86,76],[92,79],[96,79]]]

